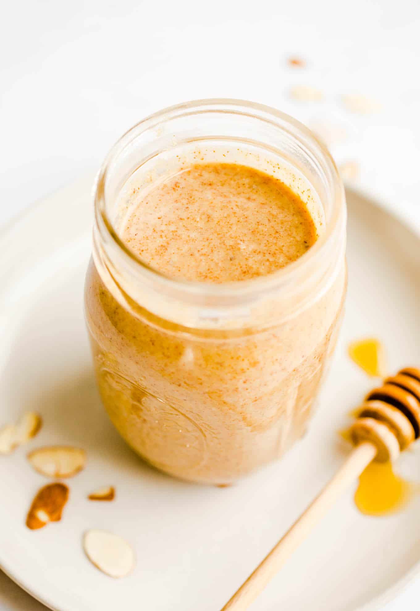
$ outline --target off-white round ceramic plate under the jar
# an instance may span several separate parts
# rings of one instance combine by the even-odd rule
[[[24,525],[46,483],[28,448],[0,459],[0,565],[52,609],[218,611],[335,472],[348,448],[337,431],[372,382],[346,356],[350,340],[381,338],[391,370],[419,362],[420,239],[383,208],[349,192],[349,296],[336,359],[310,432],[278,464],[232,488],[189,485],[143,464],[101,408],[82,313],[90,252],[92,178],[49,197],[0,240],[1,421],[39,411],[29,448],[74,444],[89,455],[72,480],[63,519]],[[1,422],[0,422],[1,423]],[[399,469],[420,481],[419,450]],[[114,485],[112,503],[86,500]],[[402,513],[367,518],[349,491],[252,607],[353,611],[381,606],[415,574],[420,498]],[[118,533],[137,556],[113,580],[82,551],[89,528]]]

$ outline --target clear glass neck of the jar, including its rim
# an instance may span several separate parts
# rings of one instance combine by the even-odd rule
[[[252,166],[277,159],[278,167],[306,181],[322,207],[322,231],[306,254],[267,276],[223,284],[165,276],[121,240],[118,194],[139,169],[159,174],[179,153],[223,146],[245,152]],[[338,274],[345,234],[344,188],[327,148],[301,123],[262,104],[198,100],[157,112],[118,140],[96,180],[93,256],[100,276],[125,307],[139,306],[137,315],[186,329],[261,328],[297,315]],[[267,309],[264,302],[277,305]]]

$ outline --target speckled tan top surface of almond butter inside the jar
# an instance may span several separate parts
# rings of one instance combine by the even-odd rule
[[[132,194],[121,237],[168,276],[221,283],[266,276],[293,263],[317,233],[300,197],[277,178],[252,167],[210,163],[159,183],[145,199]]]

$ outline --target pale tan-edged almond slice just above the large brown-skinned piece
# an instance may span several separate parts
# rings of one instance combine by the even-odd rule
[[[73,477],[85,466],[86,453],[80,448],[53,445],[33,450],[27,458],[46,477]]]

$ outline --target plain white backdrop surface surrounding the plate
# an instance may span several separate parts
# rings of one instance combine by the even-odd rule
[[[1,21],[0,225],[98,167],[145,115],[205,97],[322,128],[338,163],[360,164],[359,186],[420,218],[418,0],[21,0]],[[324,100],[292,100],[298,84]],[[349,112],[348,93],[380,112]],[[419,597],[420,581],[386,610],[418,609]],[[12,609],[45,607],[0,573],[0,610]]]

